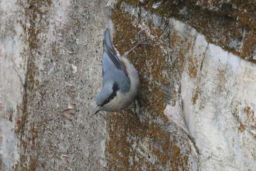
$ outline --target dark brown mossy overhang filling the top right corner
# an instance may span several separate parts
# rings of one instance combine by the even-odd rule
[[[209,4],[214,6],[215,3],[197,4],[197,1],[193,0],[164,0],[158,8],[153,9],[152,5],[158,2],[157,0],[147,0],[145,3],[137,0],[123,1],[164,17],[174,17],[184,21],[205,35],[208,42],[256,63],[252,58],[254,49],[251,48],[256,43],[256,3],[254,2],[233,2],[241,8],[240,10],[228,4],[218,6],[217,10],[210,10]],[[215,5],[220,4],[220,0],[214,2],[217,2]],[[243,37],[245,42],[241,48]]]

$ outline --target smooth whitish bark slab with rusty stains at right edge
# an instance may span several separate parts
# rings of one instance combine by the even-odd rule
[[[187,62],[181,95],[185,122],[202,154],[201,169],[255,170],[256,65],[200,34],[193,48],[187,57],[197,57],[197,75],[189,76]]]

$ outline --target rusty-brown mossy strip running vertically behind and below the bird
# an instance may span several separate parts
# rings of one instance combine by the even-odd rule
[[[119,7],[113,11],[111,19],[115,25],[113,44],[123,54],[136,44],[135,35],[140,28],[136,27],[136,24],[134,26],[133,17],[123,13]],[[172,43],[184,43],[184,40],[181,40],[175,31],[170,35],[164,35],[153,22],[148,24],[150,34],[155,37],[151,45],[138,47],[128,56],[140,77],[140,113],[146,114],[148,118],[141,121],[139,114],[134,112],[132,107],[121,113],[108,115],[106,170],[156,171],[162,168],[166,171],[187,171],[190,150],[184,149],[182,152],[177,146],[175,135],[166,130],[168,121],[164,115],[165,101],[171,95],[175,96],[173,87],[170,88],[173,82],[170,78],[183,71],[184,49],[187,48],[178,50],[176,58],[172,58],[172,54],[164,54],[162,47]],[[169,42],[159,43],[161,38]],[[171,65],[168,59],[173,60],[175,65]],[[178,77],[177,75],[175,77]],[[156,120],[162,124],[156,123]]]

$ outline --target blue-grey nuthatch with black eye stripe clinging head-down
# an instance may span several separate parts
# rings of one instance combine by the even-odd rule
[[[138,35],[141,37],[141,30]],[[128,54],[147,39],[138,40],[136,46],[119,54],[111,42],[107,29],[103,38],[102,79],[103,87],[96,97],[97,108],[94,114],[100,110],[118,112],[133,103],[139,89],[139,76],[133,64],[127,59]],[[115,52],[116,51],[116,52]]]

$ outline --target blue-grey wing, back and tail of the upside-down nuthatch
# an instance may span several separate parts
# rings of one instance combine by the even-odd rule
[[[128,73],[122,61],[120,61],[113,51],[109,30],[105,31],[103,39],[102,78],[103,84],[109,79],[112,79],[114,82],[120,83],[123,86],[120,87],[121,90],[126,91],[128,88],[129,91],[130,89]]]

